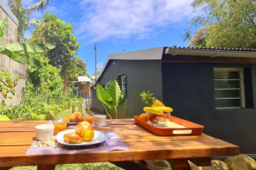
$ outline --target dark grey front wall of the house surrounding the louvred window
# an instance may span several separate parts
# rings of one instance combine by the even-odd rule
[[[249,75],[252,77],[251,94],[253,97],[256,96],[255,65],[162,63],[163,102],[166,106],[173,107],[172,115],[204,125],[204,133],[207,135],[237,144],[241,152],[255,153],[255,99],[245,100],[245,103],[252,102],[250,108],[215,110],[216,67],[246,67],[252,70],[252,74]]]

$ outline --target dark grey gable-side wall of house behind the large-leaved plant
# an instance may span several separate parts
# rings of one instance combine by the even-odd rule
[[[115,64],[114,64],[115,63]],[[161,61],[148,60],[115,60],[109,64],[99,79],[98,83],[104,85],[109,80],[115,80],[118,76],[127,76],[127,102],[125,117],[140,115],[145,105],[141,102],[139,93],[153,92],[158,100],[162,100],[162,63]],[[92,107],[98,113],[104,113],[102,103],[97,100],[92,88]],[[119,117],[123,114],[124,106],[119,108]],[[114,115],[114,110],[110,111]],[[115,117],[115,116],[114,116]]]

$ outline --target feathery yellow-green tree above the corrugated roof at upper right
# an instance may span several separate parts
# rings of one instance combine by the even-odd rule
[[[200,13],[185,33],[190,46],[215,48],[256,48],[256,4],[253,0],[194,0]]]

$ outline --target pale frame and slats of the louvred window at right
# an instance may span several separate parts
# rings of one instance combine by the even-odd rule
[[[214,71],[239,71],[240,79],[225,79],[225,80],[240,80],[240,88],[224,88],[224,89],[215,89],[217,90],[240,90],[241,98],[215,98],[215,100],[241,100],[241,107],[215,107],[215,109],[229,109],[229,108],[245,108],[245,83],[244,83],[244,68],[215,68]],[[221,81],[223,79],[214,79],[214,81]]]

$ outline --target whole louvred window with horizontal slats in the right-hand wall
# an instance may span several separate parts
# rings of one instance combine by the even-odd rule
[[[245,108],[243,68],[215,68],[215,108]]]

